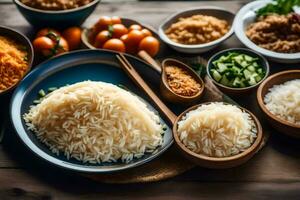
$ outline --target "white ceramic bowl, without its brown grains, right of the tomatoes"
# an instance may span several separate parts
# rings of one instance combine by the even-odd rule
[[[181,17],[190,17],[192,15],[209,15],[214,16],[219,19],[226,20],[229,25],[231,26],[228,33],[226,33],[223,37],[214,40],[209,43],[205,44],[198,44],[198,45],[185,45],[173,42],[171,39],[168,38],[168,36],[165,34],[165,30],[170,27],[171,24],[176,23],[179,18]],[[159,27],[158,34],[159,37],[167,43],[171,48],[175,49],[176,51],[182,52],[182,53],[204,53],[207,52],[215,47],[217,47],[219,44],[224,42],[226,39],[228,39],[233,34],[233,20],[234,20],[234,14],[219,7],[199,7],[199,8],[193,8],[185,11],[178,12],[172,16],[170,16],[167,20],[165,20],[162,25]]]

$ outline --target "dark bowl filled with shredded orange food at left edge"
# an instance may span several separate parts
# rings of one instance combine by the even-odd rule
[[[31,69],[33,48],[23,34],[0,26],[0,95],[9,93]]]

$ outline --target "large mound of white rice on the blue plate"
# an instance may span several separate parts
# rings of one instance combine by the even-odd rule
[[[159,116],[130,92],[103,82],[57,89],[24,120],[53,153],[84,163],[130,162],[163,142]]]

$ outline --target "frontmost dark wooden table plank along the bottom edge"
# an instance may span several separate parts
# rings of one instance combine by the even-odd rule
[[[78,177],[0,170],[1,199],[297,199],[300,182],[167,181],[153,184],[105,185]]]

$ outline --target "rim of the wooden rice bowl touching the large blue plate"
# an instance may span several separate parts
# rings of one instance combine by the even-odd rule
[[[263,141],[263,130],[262,130],[262,126],[259,122],[259,120],[256,118],[256,116],[250,112],[249,110],[241,107],[241,106],[238,106],[238,105],[234,105],[234,104],[229,104],[229,103],[226,103],[226,102],[222,102],[224,103],[225,105],[234,105],[234,106],[237,106],[238,108],[240,108],[241,110],[247,112],[248,114],[250,114],[252,120],[254,121],[255,123],[255,126],[257,128],[257,137],[255,139],[255,141],[252,143],[252,145],[246,149],[245,151],[237,154],[237,155],[233,155],[233,156],[229,156],[229,157],[222,157],[222,158],[218,158],[218,157],[210,157],[210,156],[206,156],[206,155],[203,155],[203,154],[197,154],[193,151],[191,151],[190,149],[188,149],[182,142],[181,140],[179,139],[178,137],[178,133],[177,133],[177,127],[178,127],[178,121],[180,121],[182,119],[182,117],[184,115],[186,115],[186,113],[188,113],[189,111],[191,110],[195,110],[197,109],[199,106],[201,105],[206,105],[206,104],[210,104],[210,103],[215,103],[215,102],[206,102],[206,103],[201,103],[201,104],[198,104],[198,105],[195,105],[195,106],[192,106],[191,108],[187,109],[186,111],[184,111],[183,113],[181,113],[175,123],[174,123],[174,126],[173,126],[173,137],[174,137],[174,140],[176,142],[176,144],[186,153],[188,154],[189,156],[192,156],[198,160],[202,160],[202,161],[207,161],[207,162],[218,162],[218,163],[221,163],[221,162],[228,162],[228,161],[234,161],[234,160],[238,160],[238,159],[241,159],[241,158],[244,158],[244,157],[247,157],[250,153],[252,152],[256,152],[257,149],[259,148],[261,142]]]

